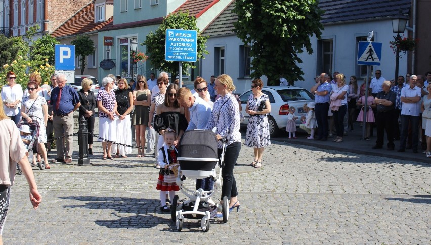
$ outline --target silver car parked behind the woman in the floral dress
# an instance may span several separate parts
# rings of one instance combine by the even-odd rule
[[[268,124],[270,126],[271,137],[277,137],[279,130],[285,130],[287,124],[287,114],[290,107],[295,107],[296,126],[301,124],[301,116],[306,116],[307,113],[303,110],[306,103],[314,101],[314,95],[305,88],[293,86],[267,86],[262,88],[262,92],[268,95],[271,103],[271,113],[268,114]],[[241,126],[246,126],[248,123],[248,114],[245,113],[248,96],[252,93],[251,89],[239,96],[242,105],[242,113],[245,120],[241,122]]]

